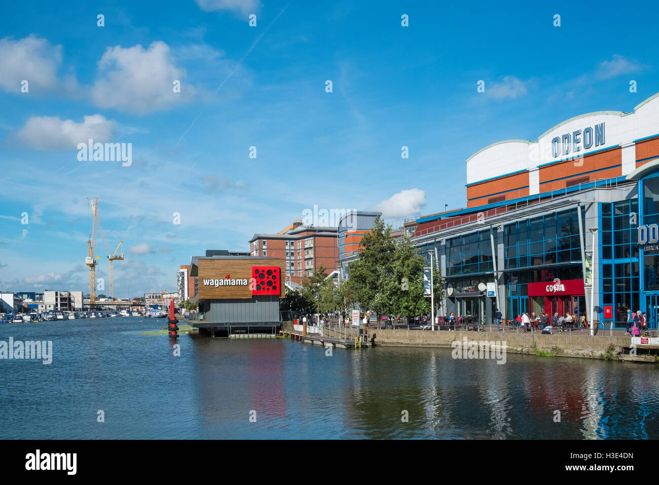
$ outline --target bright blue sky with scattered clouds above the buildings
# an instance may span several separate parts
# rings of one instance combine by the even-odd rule
[[[68,5],[1,7],[2,291],[88,292],[86,197],[109,245],[124,240],[115,296],[173,290],[190,255],[247,250],[314,205],[465,207],[480,148],[659,92],[649,2]],[[130,143],[132,164],[79,161],[91,135]]]

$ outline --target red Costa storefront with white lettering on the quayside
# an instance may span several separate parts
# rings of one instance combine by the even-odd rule
[[[536,315],[545,311],[549,315],[575,313],[579,316],[586,311],[583,280],[554,280],[529,283],[531,311]]]

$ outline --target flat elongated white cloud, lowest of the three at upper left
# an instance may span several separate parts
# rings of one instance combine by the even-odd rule
[[[23,144],[35,150],[75,149],[78,143],[88,139],[104,143],[115,135],[119,123],[105,117],[87,115],[82,123],[55,116],[33,116],[18,131],[16,137]]]

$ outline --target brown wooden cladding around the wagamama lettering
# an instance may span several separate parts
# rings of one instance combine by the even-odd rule
[[[198,288],[200,300],[252,298],[252,267],[278,267],[281,281],[279,298],[285,295],[286,275],[283,259],[250,257],[241,259],[199,259]],[[221,280],[215,282],[215,280]],[[229,283],[235,284],[231,284]],[[246,282],[246,284],[243,284]],[[223,284],[227,283],[227,284]],[[217,286],[216,286],[217,284]]]

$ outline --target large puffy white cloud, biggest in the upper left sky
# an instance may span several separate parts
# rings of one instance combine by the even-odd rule
[[[98,61],[92,102],[134,114],[164,110],[194,95],[194,87],[185,84],[184,77],[185,70],[175,65],[164,42],[153,42],[148,49],[140,44],[107,48]],[[181,82],[181,92],[173,91],[174,81]]]

